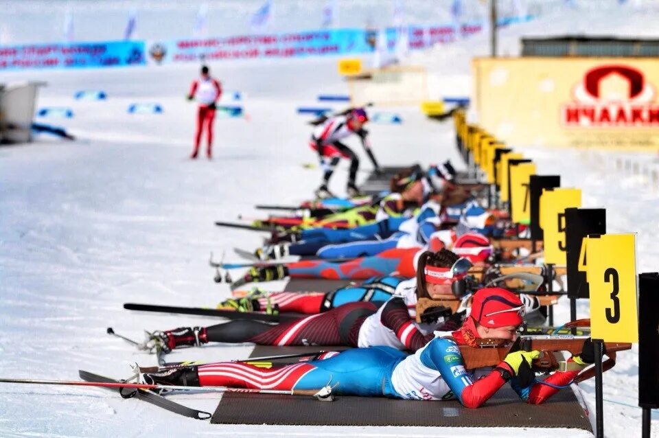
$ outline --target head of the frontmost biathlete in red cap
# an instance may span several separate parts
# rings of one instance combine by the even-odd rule
[[[472,310],[463,327],[471,328],[479,338],[515,341],[524,320],[520,297],[504,288],[483,288],[472,298]]]

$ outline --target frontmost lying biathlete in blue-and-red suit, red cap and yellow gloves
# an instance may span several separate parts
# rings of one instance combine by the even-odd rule
[[[446,275],[446,270],[431,270]],[[338,395],[393,397],[411,400],[448,400],[456,397],[476,408],[510,381],[531,404],[540,404],[569,384],[581,369],[594,362],[592,343],[568,359],[574,371],[557,371],[544,382],[535,381],[531,362],[539,351],[514,351],[494,369],[465,369],[459,345],[475,345],[478,338],[513,341],[522,325],[524,306],[517,295],[502,288],[481,289],[474,295],[472,312],[459,330],[436,332],[415,354],[392,347],[349,349],[324,354],[322,360],[273,365],[268,369],[244,362],[165,369],[143,374],[149,384],[191,387],[227,386],[255,389],[319,389],[329,384]],[[551,386],[550,386],[551,385]]]

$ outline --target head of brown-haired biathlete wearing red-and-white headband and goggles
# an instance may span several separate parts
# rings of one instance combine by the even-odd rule
[[[471,267],[469,260],[446,248],[422,253],[417,264],[417,297],[434,299],[452,294],[454,282],[464,280]]]

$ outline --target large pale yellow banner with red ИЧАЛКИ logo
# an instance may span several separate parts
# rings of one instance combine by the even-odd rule
[[[529,146],[659,148],[659,58],[474,58],[478,123]]]

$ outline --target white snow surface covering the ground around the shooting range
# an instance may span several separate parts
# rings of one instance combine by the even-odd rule
[[[616,8],[590,9],[588,14],[566,10],[502,30],[501,53],[516,53],[518,38],[526,34],[590,29],[597,34],[656,36],[656,27],[644,24],[657,23],[658,12]],[[45,23],[47,10],[37,12]],[[101,8],[98,14],[103,13]],[[177,13],[176,8],[171,12]],[[485,36],[475,36],[415,53],[413,62],[431,69],[437,95],[465,95],[470,92],[470,57],[485,53]],[[233,246],[252,249],[260,243],[258,233],[218,229],[213,220],[262,216],[253,205],[296,203],[308,198],[319,183],[318,170],[302,166],[313,162],[314,154],[306,146],[310,127],[294,108],[312,104],[319,93],[345,93],[345,84],[336,75],[336,58],[233,61],[211,68],[224,87],[248,95],[245,106],[250,116],[216,122],[213,161],[187,159],[195,108],[183,96],[197,65],[0,76],[0,82],[47,80],[38,106],[71,106],[76,117],[44,122],[63,124],[81,138],[69,143],[43,136],[29,145],[0,148],[0,376],[76,380],[78,369],[88,369],[121,377],[128,375],[130,363],[153,365],[152,356],[106,335],[106,327],[141,338],[144,329],[217,320],[128,312],[122,304],[213,306],[229,295],[229,289],[213,283],[207,264],[210,251],[218,257],[225,250],[227,261],[238,261],[231,253]],[[75,101],[73,93],[79,89],[102,89],[108,100]],[[159,102],[164,113],[129,115],[126,108],[133,102]],[[451,122],[424,119],[417,108],[394,111],[404,124],[371,127],[381,163],[430,163],[447,157],[460,163]],[[647,175],[616,165],[618,159],[632,159],[657,169],[654,156],[561,150],[556,159],[553,150],[524,148],[524,153],[542,172],[561,174],[564,186],[581,187],[584,207],[607,207],[610,232],[638,232],[638,271],[658,269],[659,187],[653,188]],[[369,168],[362,157],[362,169]],[[336,192],[343,192],[345,170],[334,176],[331,188]],[[362,172],[360,178],[366,175]],[[568,319],[568,314],[564,301],[557,321]],[[588,303],[579,303],[579,316],[587,315]],[[250,345],[213,345],[174,351],[168,358],[224,360],[246,357],[250,350]],[[640,436],[641,411],[634,406],[637,373],[634,347],[619,354],[616,367],[604,375],[608,437]],[[580,387],[592,413],[594,384],[588,381]],[[213,411],[219,396],[172,399]],[[659,413],[653,413],[653,427],[653,436],[659,436]],[[121,400],[102,389],[0,387],[1,436],[117,433],[503,437],[546,436],[547,430],[218,426]]]

